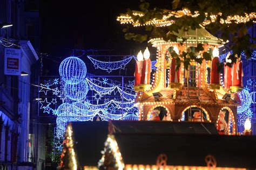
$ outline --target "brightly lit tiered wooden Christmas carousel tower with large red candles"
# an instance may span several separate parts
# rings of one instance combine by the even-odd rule
[[[162,38],[149,41],[157,48],[157,69],[152,76],[149,50],[144,54],[140,51],[137,56],[134,90],[139,120],[210,122],[215,123],[219,134],[237,134],[237,107],[241,104],[238,92],[242,90],[240,59],[232,67],[225,65],[224,70],[218,71],[218,47],[223,44],[220,39],[203,27],[179,31],[177,36],[177,42],[166,42]],[[194,51],[198,43],[203,44],[204,51],[197,56],[208,52],[212,59],[203,60],[201,64],[193,61],[187,69],[183,63],[177,67],[171,53],[181,55],[184,51]],[[228,57],[226,62],[231,62]]]

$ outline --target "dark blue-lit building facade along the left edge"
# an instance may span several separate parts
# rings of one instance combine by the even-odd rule
[[[13,26],[0,28],[0,169],[41,169],[44,153],[38,152],[35,132],[30,117],[35,110],[33,86],[37,77],[39,50],[39,12],[37,1],[0,1],[0,24]],[[20,51],[20,71],[23,75],[10,75],[4,71],[5,50]],[[37,74],[35,76],[35,74]],[[39,139],[39,138],[37,138]],[[41,138],[42,140],[43,138]],[[44,149],[41,148],[41,151]],[[39,155],[39,156],[38,156]]]

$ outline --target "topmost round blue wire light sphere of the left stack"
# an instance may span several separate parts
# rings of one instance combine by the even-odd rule
[[[77,57],[68,57],[59,65],[59,74],[68,84],[78,84],[86,76],[86,65]]]

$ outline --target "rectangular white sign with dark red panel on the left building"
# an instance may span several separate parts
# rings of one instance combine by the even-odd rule
[[[21,50],[4,49],[4,74],[21,76]]]

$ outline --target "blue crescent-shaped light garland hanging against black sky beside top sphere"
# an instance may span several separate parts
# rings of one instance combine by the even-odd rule
[[[108,73],[110,73],[113,70],[117,70],[117,69],[124,69],[125,66],[131,61],[131,59],[133,58],[133,56],[130,56],[124,60],[120,60],[118,62],[102,62],[99,61],[97,59],[94,59],[90,56],[87,56],[91,62],[93,63],[93,65],[95,66],[95,69],[102,69],[102,70],[106,70]]]

